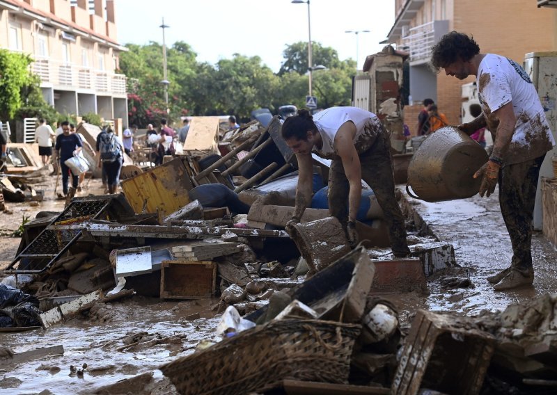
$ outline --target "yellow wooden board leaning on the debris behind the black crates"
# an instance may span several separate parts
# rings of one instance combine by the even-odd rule
[[[188,204],[191,188],[182,159],[173,159],[122,182],[122,191],[135,213],[142,213],[145,207],[146,213],[158,210],[163,216]]]

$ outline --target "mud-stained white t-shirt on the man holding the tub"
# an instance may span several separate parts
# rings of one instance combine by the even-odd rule
[[[520,65],[504,56],[487,54],[478,67],[476,83],[487,128],[493,135],[498,122],[492,113],[512,101],[517,123],[504,164],[529,161],[551,150],[555,140],[540,97]]]

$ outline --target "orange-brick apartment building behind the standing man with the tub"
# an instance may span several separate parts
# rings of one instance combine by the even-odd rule
[[[416,124],[421,102],[431,97],[451,124],[460,122],[462,85],[472,83],[430,70],[431,47],[448,31],[473,35],[482,53],[507,56],[524,63],[524,55],[557,49],[555,0],[395,0],[395,23],[387,35],[391,44],[409,52],[409,92],[405,123]],[[414,130],[411,130],[414,133]]]

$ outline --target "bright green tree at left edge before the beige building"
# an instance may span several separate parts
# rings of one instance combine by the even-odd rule
[[[22,88],[36,82],[29,70],[31,58],[0,49],[0,119],[11,119],[24,104]]]

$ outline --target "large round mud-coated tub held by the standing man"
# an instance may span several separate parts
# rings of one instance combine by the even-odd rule
[[[414,152],[406,190],[412,198],[426,202],[471,198],[481,182],[473,175],[487,160],[483,147],[463,131],[442,127]]]

